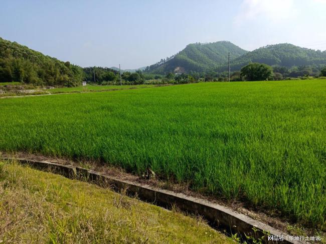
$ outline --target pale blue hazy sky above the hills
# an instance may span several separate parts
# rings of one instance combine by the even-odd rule
[[[194,42],[326,49],[326,0],[1,0],[0,36],[81,66],[138,68]]]

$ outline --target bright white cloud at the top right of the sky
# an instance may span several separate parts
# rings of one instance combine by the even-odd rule
[[[294,0],[243,0],[240,13],[235,17],[235,23],[258,20],[261,17],[278,22],[293,18],[297,14],[298,10],[295,8]]]

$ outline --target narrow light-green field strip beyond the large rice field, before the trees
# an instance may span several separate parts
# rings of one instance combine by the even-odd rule
[[[54,88],[54,89],[49,89],[48,91],[51,93],[53,93],[53,92],[82,92],[82,91],[100,91],[100,90],[110,90],[110,89],[131,89],[131,88],[142,88],[142,87],[150,87],[150,86],[153,86],[153,85],[150,85],[150,84],[138,84],[138,85],[86,84],[85,86]]]

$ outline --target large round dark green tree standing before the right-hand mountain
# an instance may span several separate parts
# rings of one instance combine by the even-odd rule
[[[241,76],[246,80],[266,80],[273,75],[272,67],[264,64],[252,62],[241,68]]]

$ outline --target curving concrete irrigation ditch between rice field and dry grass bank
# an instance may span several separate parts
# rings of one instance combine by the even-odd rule
[[[110,187],[115,191],[125,190],[128,195],[137,195],[141,200],[170,208],[177,206],[180,210],[189,213],[199,214],[207,219],[213,227],[226,229],[228,233],[245,233],[249,236],[260,238],[266,234],[274,236],[284,236],[283,243],[306,243],[304,241],[289,240],[287,233],[273,228],[260,221],[254,220],[244,214],[235,212],[228,207],[207,200],[187,196],[171,190],[159,189],[150,185],[141,184],[131,180],[120,179],[115,176],[106,175],[91,169],[86,169],[74,165],[53,163],[48,161],[38,161],[28,158],[3,157],[4,160],[16,160],[23,164],[29,164],[34,168],[50,171],[72,179],[84,180],[95,183],[102,187]],[[254,231],[257,229],[258,231]],[[244,237],[244,236],[243,236]],[[268,241],[277,243],[277,241]]]

